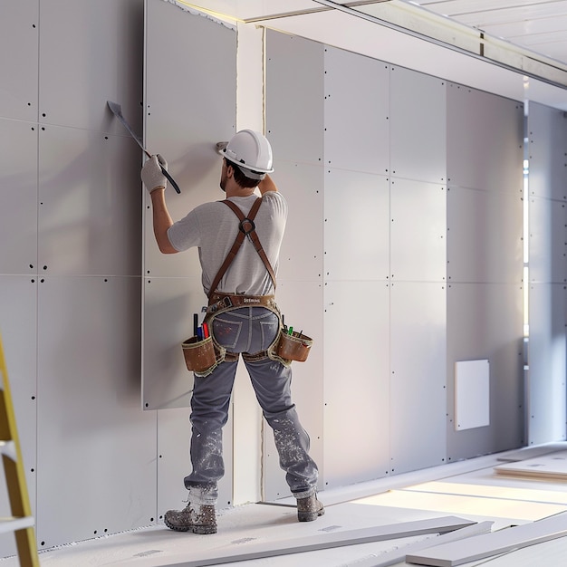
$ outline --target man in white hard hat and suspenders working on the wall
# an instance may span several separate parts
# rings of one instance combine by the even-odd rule
[[[227,200],[235,203],[241,216],[250,215],[256,199],[260,201],[251,223],[239,222],[223,201],[196,207],[174,223],[166,206],[167,179],[161,170],[167,169],[167,163],[152,156],[141,171],[151,196],[159,250],[164,254],[193,246],[199,250],[203,289],[209,298],[208,329],[217,349],[225,352],[224,360],[210,372],[195,375],[190,415],[192,471],[184,479],[188,504],[181,511],[169,510],[164,518],[169,528],[180,532],[216,533],[217,482],[225,474],[222,428],[228,418],[239,355],[264,418],[274,430],[280,465],[297,499],[298,520],[311,522],[324,513],[316,495],[318,469],[309,456],[309,436],[291,397],[291,367],[269,356],[282,325],[274,302],[273,276],[287,218],[287,204],[269,175],[274,170],[272,148],[259,132],[240,130],[227,144],[217,144],[217,151],[223,157],[220,187]],[[256,187],[261,199],[255,195]],[[244,238],[216,283],[239,230],[250,235],[253,229],[265,262],[252,238]]]

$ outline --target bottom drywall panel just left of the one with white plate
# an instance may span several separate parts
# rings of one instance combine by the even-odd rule
[[[444,283],[396,282],[390,288],[389,442],[395,474],[446,460],[446,293]]]

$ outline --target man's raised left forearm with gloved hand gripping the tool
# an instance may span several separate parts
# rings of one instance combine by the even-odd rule
[[[168,180],[163,175],[161,168],[167,169],[168,162],[161,156],[152,156],[144,164],[141,170],[141,178],[151,197],[154,236],[159,251],[163,254],[175,254],[178,250],[171,245],[168,237],[168,228],[173,225],[165,197]]]

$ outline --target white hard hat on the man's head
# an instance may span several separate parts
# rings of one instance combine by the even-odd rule
[[[266,173],[274,171],[272,146],[260,132],[255,130],[236,132],[220,153],[228,161],[243,169],[247,178],[263,179]]]

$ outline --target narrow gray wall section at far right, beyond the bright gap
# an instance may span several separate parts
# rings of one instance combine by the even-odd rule
[[[565,439],[567,117],[530,102],[528,440]]]

